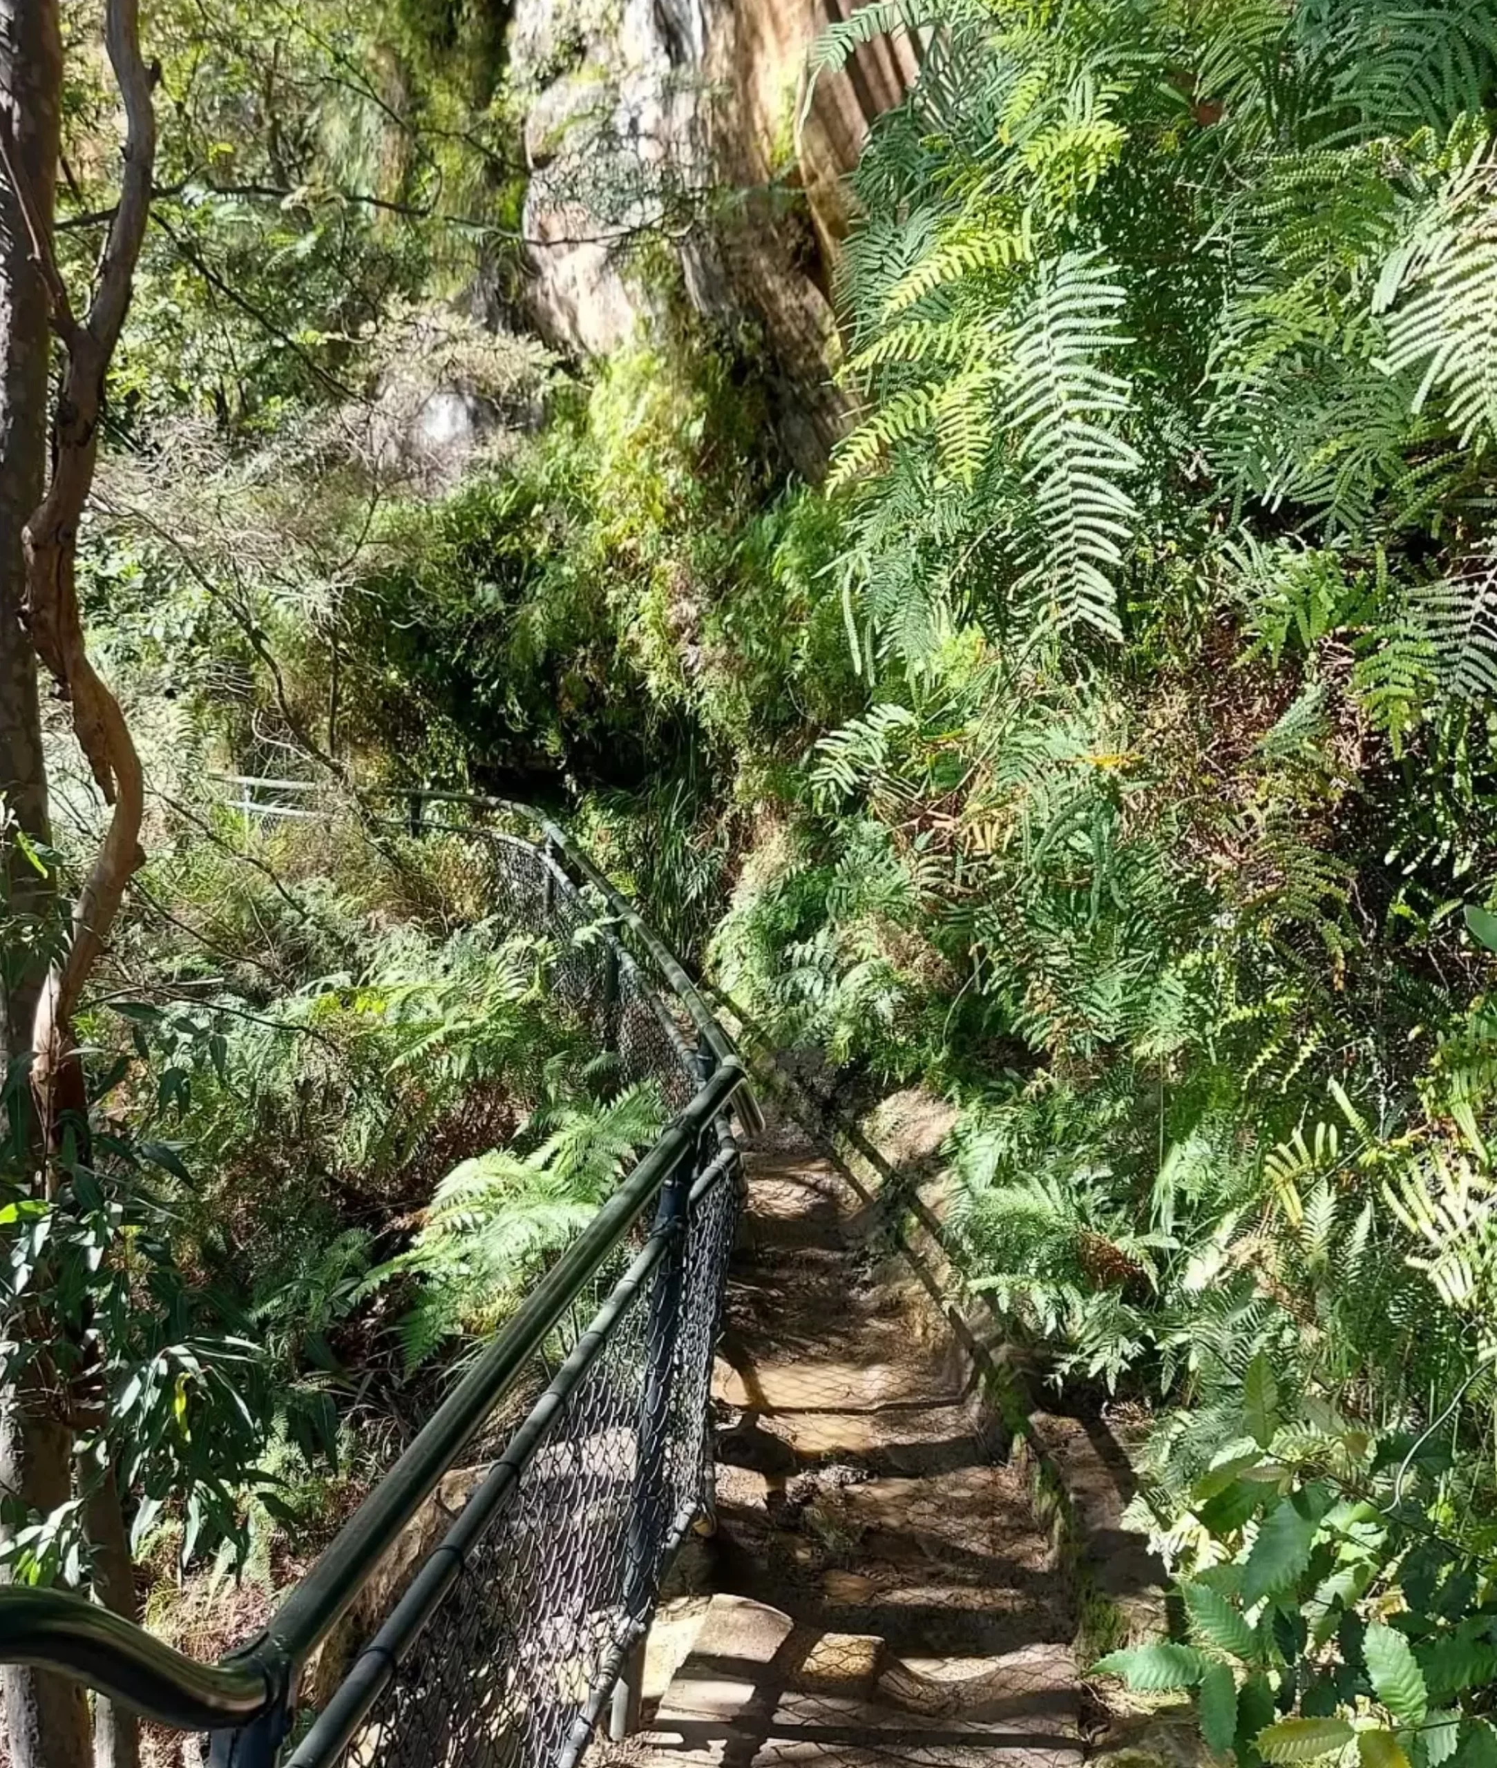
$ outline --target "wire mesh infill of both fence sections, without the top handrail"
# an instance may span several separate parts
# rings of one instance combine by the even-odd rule
[[[458,833],[458,831],[453,831]],[[711,1055],[559,856],[462,831],[495,919],[549,941],[550,988],[619,1084],[681,1112]],[[711,1367],[740,1208],[727,1119],[708,1119],[623,1246],[536,1354],[536,1395],[485,1420],[462,1489],[288,1768],[572,1768],[642,1641],[674,1549],[711,1510]],[[513,1391],[513,1390],[511,1390]]]

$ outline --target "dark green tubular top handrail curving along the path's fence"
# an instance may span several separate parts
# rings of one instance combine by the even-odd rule
[[[232,778],[230,783],[269,781]],[[276,785],[296,787],[297,783],[276,781]],[[763,1126],[759,1107],[745,1089],[743,1063],[706,999],[628,898],[577,850],[563,829],[538,812],[506,799],[444,792],[391,792],[389,796],[474,803],[529,820],[543,836],[545,845],[540,847],[540,852],[547,861],[554,866],[554,852],[563,854],[580,877],[603,896],[609,911],[628,925],[651,964],[658,967],[679,997],[692,1025],[710,1050],[711,1061],[706,1064],[708,1073],[702,1084],[685,1109],[665,1126],[618,1192],[561,1254],[494,1344],[453,1388],[384,1480],[373,1487],[306,1577],[290,1591],[257,1639],[225,1655],[218,1664],[202,1664],[165,1644],[143,1627],[74,1591],[0,1588],[0,1664],[28,1664],[69,1676],[143,1717],[179,1731],[216,1731],[226,1743],[214,1761],[274,1761],[274,1750],[281,1741],[278,1734],[265,1740],[264,1754],[250,1752],[241,1757],[234,1750],[234,1738],[226,1736],[230,1727],[234,1736],[246,1738],[257,1722],[269,1722],[285,1713],[296,1676],[308,1657],[327,1639],[398,1542],[402,1531],[471,1443],[474,1430],[515,1386],[536,1351],[545,1345],[609,1255],[639,1225],[683,1162],[695,1155],[702,1135],[717,1119],[722,1119],[729,1103],[750,1128]],[[464,829],[460,833],[483,831]],[[655,1238],[646,1245],[641,1259],[646,1255],[651,1261],[658,1259],[658,1245],[655,1252],[651,1252],[651,1245],[656,1245]],[[580,1353],[582,1345],[573,1356]],[[547,1391],[550,1393],[550,1390]],[[538,1404],[545,1402],[547,1395]],[[522,1432],[533,1420],[534,1413]],[[504,1462],[495,1464],[494,1473],[497,1475],[503,1466]],[[478,1522],[480,1515],[476,1513],[469,1526]],[[386,1628],[402,1621],[411,1630],[414,1618],[414,1628],[419,1630],[421,1621],[441,1600],[453,1575],[455,1572],[444,1572],[441,1559],[437,1559],[426,1574],[425,1584],[418,1581],[412,1586]],[[361,1699],[361,1694],[368,1694],[368,1699]],[[338,1711],[329,1711],[329,1722],[336,1724],[340,1715],[347,1717],[356,1704],[357,1713],[366,1711],[377,1694],[379,1687],[370,1692],[368,1681],[363,1687],[356,1683],[342,1699]],[[357,1715],[352,1722],[357,1722]]]

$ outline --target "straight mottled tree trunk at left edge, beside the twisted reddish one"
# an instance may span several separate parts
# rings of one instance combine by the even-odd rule
[[[51,223],[58,152],[62,50],[57,0],[0,0],[0,104],[9,95],[19,164]],[[21,626],[27,560],[21,530],[41,502],[46,476],[50,297],[32,258],[21,209],[0,179],[0,792],[18,826],[48,840],[46,771],[37,711],[37,663]],[[14,849],[4,854],[11,907],[50,907],[51,882]],[[0,1055],[27,1050],[42,974],[14,971],[7,953],[0,990]],[[28,1110],[25,1089],[19,1110]],[[32,1135],[42,1165],[39,1126]],[[14,1506],[50,1512],[73,1496],[73,1441],[62,1397],[48,1391],[44,1365],[0,1395],[0,1485]],[[21,1665],[0,1671],[0,1701],[12,1768],[88,1768],[88,1708],[81,1690]]]

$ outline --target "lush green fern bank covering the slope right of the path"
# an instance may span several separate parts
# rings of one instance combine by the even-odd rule
[[[924,1077],[970,1282],[1145,1397],[1239,1761],[1486,1759],[1493,21],[936,27],[846,255],[865,707],[713,956]]]

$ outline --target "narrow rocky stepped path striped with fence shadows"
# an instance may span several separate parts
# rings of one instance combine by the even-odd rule
[[[747,1160],[717,1398],[720,1591],[646,1756],[1079,1761],[1067,1591],[966,1386],[825,1160]]]

